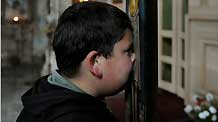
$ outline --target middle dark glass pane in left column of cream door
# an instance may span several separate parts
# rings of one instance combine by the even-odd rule
[[[162,38],[162,54],[166,56],[172,56],[172,39]]]

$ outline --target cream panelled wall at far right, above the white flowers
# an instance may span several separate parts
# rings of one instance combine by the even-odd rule
[[[218,96],[218,1],[190,0],[187,19],[189,75],[186,102],[195,93]]]

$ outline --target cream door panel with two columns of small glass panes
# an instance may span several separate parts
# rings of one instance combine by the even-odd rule
[[[188,0],[159,0],[158,86],[184,97]]]

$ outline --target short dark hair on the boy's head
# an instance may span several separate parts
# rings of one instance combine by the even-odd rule
[[[60,72],[73,77],[92,50],[108,58],[127,29],[133,32],[128,15],[112,5],[73,4],[60,16],[54,33],[53,48]]]

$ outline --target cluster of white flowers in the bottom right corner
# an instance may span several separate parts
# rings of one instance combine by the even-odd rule
[[[186,105],[184,111],[197,122],[218,122],[218,101],[213,94],[195,94],[192,97],[193,104]]]

